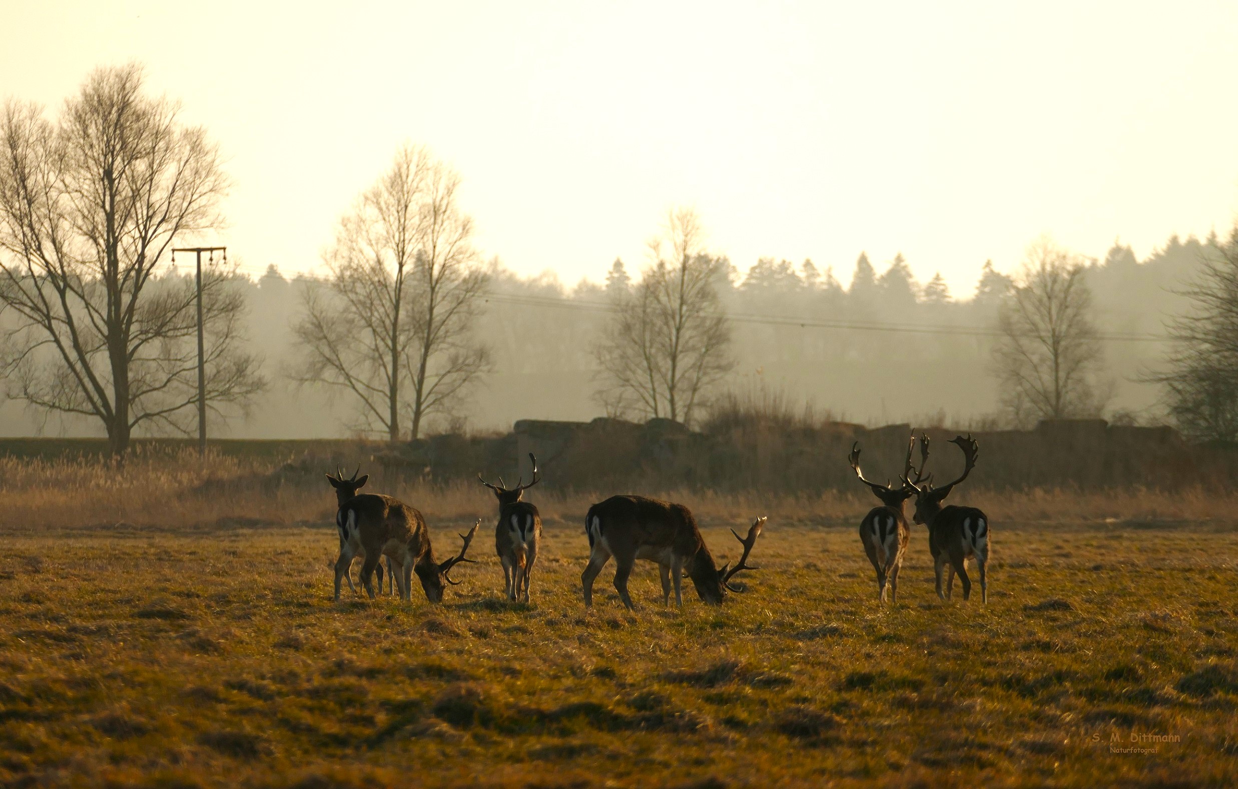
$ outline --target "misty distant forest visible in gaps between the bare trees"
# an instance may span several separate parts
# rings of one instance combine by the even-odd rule
[[[1087,266],[1102,336],[1123,337],[1102,341],[1106,374],[1114,384],[1108,416],[1139,422],[1162,417],[1160,386],[1143,378],[1160,369],[1167,346],[1124,337],[1164,336],[1165,322],[1186,307],[1177,291],[1198,270],[1207,244],[1174,237],[1143,260],[1115,244]],[[719,296],[732,317],[735,367],[722,388],[764,386],[811,404],[822,416],[869,425],[1000,426],[990,368],[998,305],[1009,279],[985,263],[974,294],[951,294],[941,280],[917,281],[901,258],[874,265],[860,254],[847,268],[775,258],[740,268],[728,260]],[[594,346],[605,331],[614,290],[639,274],[639,264],[615,260],[598,270],[598,281],[567,285],[552,272],[521,277],[491,259],[475,329],[490,348],[493,367],[458,404],[456,419],[439,417],[430,430],[509,430],[517,419],[605,415],[595,396]],[[849,274],[848,286],[839,282],[841,270]],[[192,279],[192,270],[182,258],[165,276]],[[212,434],[366,435],[361,415],[342,393],[297,385],[286,375],[298,352],[292,327],[302,294],[323,282],[285,277],[274,265],[265,271],[243,265],[234,285],[245,305],[248,348],[261,360],[269,385],[246,411],[213,417]],[[84,419],[43,424],[42,415],[15,401],[6,401],[2,414],[6,435],[99,432]]]

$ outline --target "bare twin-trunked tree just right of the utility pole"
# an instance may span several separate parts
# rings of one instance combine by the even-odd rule
[[[326,286],[303,294],[293,378],[347,390],[391,441],[416,438],[489,365],[472,332],[487,276],[458,186],[425,147],[402,147],[340,220]]]

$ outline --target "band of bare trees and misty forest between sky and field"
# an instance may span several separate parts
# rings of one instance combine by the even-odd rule
[[[223,227],[230,182],[178,114],[136,64],[97,69],[58,115],[5,104],[0,432],[103,434],[124,455],[197,432],[203,403],[219,437],[405,440],[517,419],[699,424],[714,403],[774,398],[816,422],[1169,417],[1238,436],[1238,234],[1174,237],[1141,261],[1034,239],[951,294],[901,254],[733,261],[678,207],[641,260],[568,285],[487,259],[461,175],[406,144],[324,228],[321,274],[234,249],[209,253],[199,284],[175,251]]]

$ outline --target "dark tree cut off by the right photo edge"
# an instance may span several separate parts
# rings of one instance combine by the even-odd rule
[[[1167,325],[1172,351],[1165,372],[1149,380],[1165,386],[1164,404],[1184,436],[1195,441],[1238,440],[1238,227],[1212,242],[1200,270],[1180,291],[1191,308]]]

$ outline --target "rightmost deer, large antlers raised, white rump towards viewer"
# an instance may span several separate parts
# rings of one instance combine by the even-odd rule
[[[967,479],[967,474],[976,468],[976,457],[979,453],[972,436],[954,436],[950,440],[957,443],[963,451],[963,474],[940,488],[932,483],[920,484],[920,479],[911,482],[910,473],[904,474],[903,482],[916,492],[916,512],[912,518],[916,523],[928,526],[928,552],[932,554],[933,567],[937,572],[937,597],[947,599],[954,590],[954,573],[958,573],[963,582],[963,599],[972,595],[972,580],[967,577],[967,560],[976,559],[976,567],[980,573],[980,602],[989,602],[989,587],[984,575],[984,566],[989,561],[989,519],[974,507],[942,507],[942,500],[959,482]],[[920,436],[920,469],[928,462],[928,436]],[[942,593],[942,572],[950,573],[946,582],[946,593]]]

